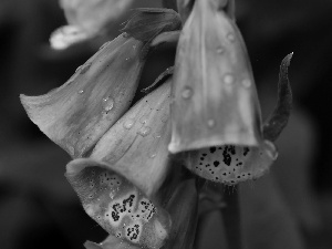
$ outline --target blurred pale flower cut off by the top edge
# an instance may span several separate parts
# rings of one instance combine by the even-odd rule
[[[133,0],[60,0],[69,25],[51,35],[53,49],[66,49],[73,43],[91,39],[120,18]]]

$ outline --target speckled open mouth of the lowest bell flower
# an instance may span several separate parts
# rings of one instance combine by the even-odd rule
[[[170,227],[167,211],[102,162],[79,158],[65,176],[86,214],[107,232],[135,246],[160,248]]]

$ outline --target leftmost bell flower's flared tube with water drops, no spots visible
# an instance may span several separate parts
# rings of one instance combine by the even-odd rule
[[[62,86],[21,95],[39,128],[72,157],[81,157],[129,107],[145,60],[143,43],[121,34],[106,43]]]

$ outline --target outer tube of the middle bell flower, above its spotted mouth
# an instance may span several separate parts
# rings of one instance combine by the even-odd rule
[[[169,166],[170,80],[142,98],[98,141],[91,158],[125,175],[147,196],[163,184]]]

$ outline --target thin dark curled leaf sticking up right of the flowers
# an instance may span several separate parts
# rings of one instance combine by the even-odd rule
[[[293,53],[288,54],[281,62],[277,106],[270,117],[264,122],[263,136],[274,142],[286,127],[292,110],[292,90],[288,80],[288,66]]]

